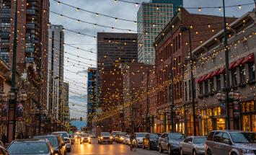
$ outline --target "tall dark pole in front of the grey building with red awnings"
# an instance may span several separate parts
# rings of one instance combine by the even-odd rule
[[[225,71],[226,71],[226,130],[230,130],[229,121],[229,49],[228,49],[228,39],[226,37],[226,10],[225,10],[225,0],[223,0],[223,14],[224,14],[224,48],[225,48]]]

